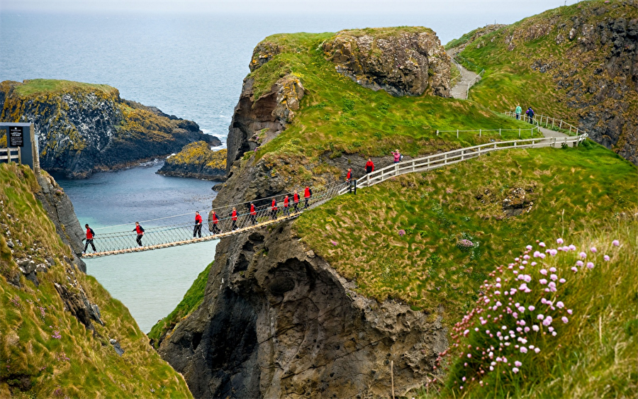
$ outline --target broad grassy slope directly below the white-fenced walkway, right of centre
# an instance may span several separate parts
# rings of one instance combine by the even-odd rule
[[[494,262],[537,237],[605,225],[635,207],[637,184],[636,167],[591,142],[509,150],[340,196],[294,228],[365,296],[428,313],[442,304],[451,323],[472,307]],[[501,204],[515,187],[532,210],[506,218]],[[474,247],[461,249],[463,239]]]

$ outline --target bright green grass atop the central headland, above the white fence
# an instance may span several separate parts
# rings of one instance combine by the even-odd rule
[[[379,35],[415,28],[385,28]],[[325,151],[359,153],[364,157],[388,155],[395,148],[415,156],[441,149],[475,145],[476,133],[437,137],[436,130],[529,128],[467,101],[440,97],[395,98],[385,91],[371,91],[337,74],[325,59],[321,43],[333,33],[297,33],[269,36],[264,42],[284,52],[252,72],[255,97],[270,89],[285,74],[301,79],[306,96],[293,123],[267,143],[259,156],[276,159],[281,154],[315,157]],[[506,136],[507,137],[507,136]]]

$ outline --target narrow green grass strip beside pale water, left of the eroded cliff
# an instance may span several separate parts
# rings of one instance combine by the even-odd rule
[[[184,298],[177,307],[169,315],[167,315],[167,317],[159,320],[159,322],[152,327],[148,333],[151,344],[157,347],[159,340],[163,338],[162,336],[164,334],[172,331],[177,323],[199,307],[203,300],[203,294],[206,290],[206,283],[208,281],[208,273],[210,273],[212,266],[212,262],[206,266],[206,269],[197,276],[193,285],[189,288],[189,291],[186,291]]]

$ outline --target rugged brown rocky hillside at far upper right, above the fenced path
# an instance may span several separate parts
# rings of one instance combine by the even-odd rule
[[[591,1],[577,10],[530,18],[502,40],[510,52],[532,41],[560,48],[549,57],[527,54],[529,67],[552,74],[579,128],[638,164],[638,1]]]

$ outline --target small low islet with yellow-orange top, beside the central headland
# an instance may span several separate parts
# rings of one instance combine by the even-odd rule
[[[208,142],[192,142],[168,157],[157,174],[225,181],[226,150],[213,151]]]

